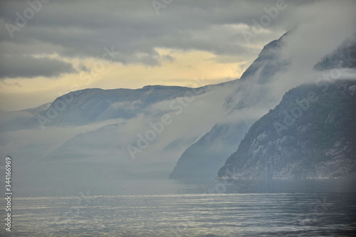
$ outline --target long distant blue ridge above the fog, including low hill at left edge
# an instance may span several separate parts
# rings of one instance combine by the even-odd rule
[[[211,87],[197,88],[199,93],[195,95],[205,93]],[[4,111],[4,116],[11,119],[0,121],[0,130],[4,132],[38,127],[78,126],[117,118],[130,119],[145,112],[150,105],[184,97],[191,91],[192,88],[164,85],[147,85],[140,89],[77,90],[36,108]]]

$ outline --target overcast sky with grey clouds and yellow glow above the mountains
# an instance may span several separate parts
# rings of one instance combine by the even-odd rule
[[[0,109],[19,110],[83,88],[234,80],[290,28],[355,26],[356,1],[9,0],[0,9]]]

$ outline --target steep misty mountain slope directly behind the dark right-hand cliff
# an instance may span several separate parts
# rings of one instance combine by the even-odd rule
[[[253,122],[266,113],[268,108],[278,103],[278,100],[268,96],[268,93],[271,93],[270,88],[264,85],[289,64],[280,57],[283,38],[288,36],[288,33],[263,47],[258,58],[241,75],[234,91],[226,96],[224,103],[227,111],[226,120],[229,120],[229,117],[239,119],[217,122],[210,132],[182,154],[176,167],[169,174],[170,179],[214,179],[216,171],[224,164],[226,157],[236,150],[236,144],[244,138]],[[241,116],[251,107],[261,110],[246,118]]]

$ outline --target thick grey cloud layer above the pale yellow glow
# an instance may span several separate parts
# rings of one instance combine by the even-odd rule
[[[250,46],[242,29],[253,26],[253,19],[259,21],[266,14],[264,8],[276,6],[275,0],[172,1],[159,10],[159,15],[151,1],[50,1],[26,26],[14,32],[14,38],[4,26],[0,27],[0,46],[10,46],[8,51],[20,47],[30,55],[33,45],[37,52],[43,46],[41,53],[70,58],[101,58],[105,47],[114,46],[120,52],[115,61],[150,66],[168,59],[155,51],[159,47],[238,55],[246,61],[256,58],[262,46],[295,26],[297,10],[313,2],[286,0],[286,9],[279,11]],[[0,16],[4,22],[15,24],[16,11],[21,13],[26,8],[26,1],[6,1]],[[315,14],[323,14],[323,9]]]

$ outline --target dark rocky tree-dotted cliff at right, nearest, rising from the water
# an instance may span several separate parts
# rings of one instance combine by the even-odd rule
[[[356,175],[356,81],[300,85],[255,122],[219,179]]]

